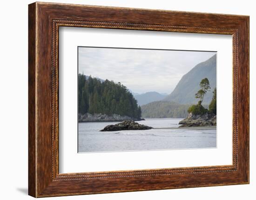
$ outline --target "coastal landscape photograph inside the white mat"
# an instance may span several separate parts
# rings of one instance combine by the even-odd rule
[[[78,152],[216,148],[216,60],[216,52],[79,46]]]

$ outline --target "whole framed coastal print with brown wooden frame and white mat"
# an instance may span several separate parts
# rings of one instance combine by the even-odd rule
[[[249,183],[249,17],[29,5],[29,195]]]

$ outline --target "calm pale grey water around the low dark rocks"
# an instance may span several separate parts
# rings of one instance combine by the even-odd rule
[[[184,148],[216,148],[216,127],[179,129],[178,118],[146,119],[149,130],[100,132],[118,122],[78,124],[78,152],[141,151]]]

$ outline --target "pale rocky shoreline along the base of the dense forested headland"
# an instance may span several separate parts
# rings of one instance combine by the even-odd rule
[[[86,113],[84,115],[78,114],[78,122],[122,122],[125,120],[141,121],[145,120],[142,118],[133,118],[129,116],[121,116],[117,114],[106,115],[106,114],[90,114]]]

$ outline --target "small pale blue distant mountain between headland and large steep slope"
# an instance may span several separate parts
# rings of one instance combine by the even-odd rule
[[[134,97],[138,101],[138,105],[145,105],[150,102],[161,101],[166,95],[162,95],[158,92],[146,92],[144,94],[135,95]]]

